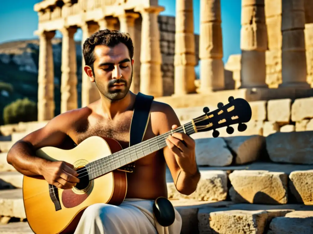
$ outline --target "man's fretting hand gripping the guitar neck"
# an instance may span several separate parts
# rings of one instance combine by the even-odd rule
[[[177,125],[173,125],[172,129],[176,129]],[[166,139],[166,144],[175,155],[177,164],[187,174],[197,172],[195,141],[185,133],[173,133]]]

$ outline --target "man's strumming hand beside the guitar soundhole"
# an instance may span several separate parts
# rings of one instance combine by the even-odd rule
[[[61,189],[71,189],[80,182],[74,166],[64,161],[47,162],[42,175],[49,184]]]

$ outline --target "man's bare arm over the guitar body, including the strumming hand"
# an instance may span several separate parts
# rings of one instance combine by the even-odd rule
[[[41,129],[17,141],[9,150],[7,162],[27,176],[42,175],[58,188],[72,188],[79,179],[73,166],[63,161],[51,162],[37,157],[35,152],[45,146],[57,147],[62,144],[70,127],[69,114],[58,115]],[[68,187],[69,186],[69,187]]]

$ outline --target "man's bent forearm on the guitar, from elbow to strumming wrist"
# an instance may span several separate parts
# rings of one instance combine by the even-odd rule
[[[35,156],[32,145],[28,142],[18,141],[9,150],[7,162],[23,175],[41,175],[46,159]]]

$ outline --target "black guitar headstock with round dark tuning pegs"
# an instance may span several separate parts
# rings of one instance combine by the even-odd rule
[[[228,98],[228,104],[218,103],[218,109],[209,112],[208,107],[203,108],[204,115],[198,118],[192,119],[197,132],[206,132],[213,130],[213,137],[218,137],[218,128],[227,126],[226,132],[232,134],[234,132],[233,127],[230,125],[239,124],[238,131],[243,132],[247,129],[247,125],[244,123],[249,122],[252,116],[252,110],[249,103],[242,99],[234,99],[232,96]]]

